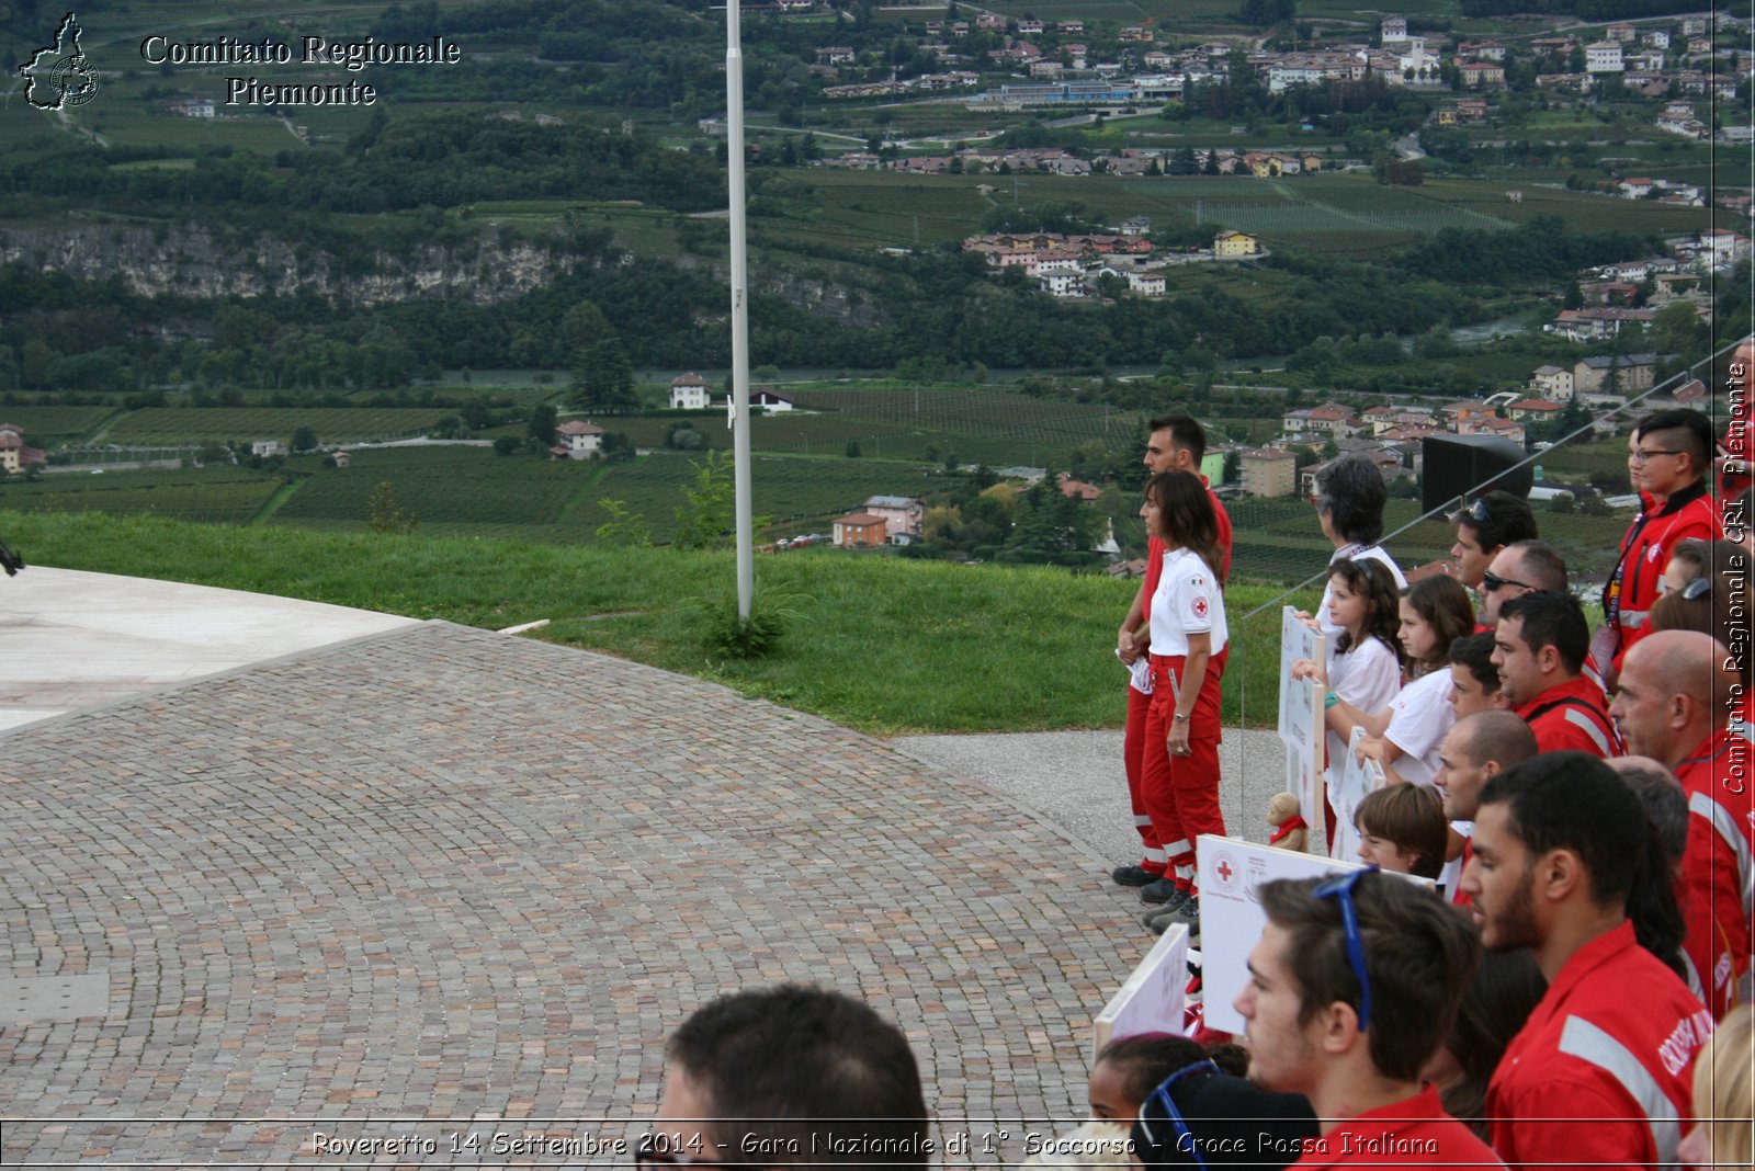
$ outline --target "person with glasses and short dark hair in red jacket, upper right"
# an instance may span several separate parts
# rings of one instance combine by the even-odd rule
[[[1618,664],[1644,633],[1676,545],[1725,535],[1706,486],[1713,452],[1711,421],[1688,408],[1646,415],[1627,440],[1627,477],[1639,493],[1639,515],[1627,528],[1622,556],[1602,587],[1602,628],[1599,645],[1592,647],[1599,666]]]

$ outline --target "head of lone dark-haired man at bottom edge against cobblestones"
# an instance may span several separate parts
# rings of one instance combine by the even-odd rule
[[[907,1040],[841,992],[788,983],[721,996],[665,1050],[641,1167],[923,1169],[935,1153]]]

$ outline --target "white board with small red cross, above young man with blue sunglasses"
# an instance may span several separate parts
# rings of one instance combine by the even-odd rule
[[[1267,915],[1255,891],[1274,878],[1314,878],[1364,862],[1299,854],[1243,838],[1200,834],[1200,987],[1209,1029],[1243,1033],[1243,1017],[1230,1006],[1250,980],[1250,948],[1262,938]]]

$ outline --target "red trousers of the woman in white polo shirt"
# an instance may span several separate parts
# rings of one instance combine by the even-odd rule
[[[1204,833],[1225,833],[1225,815],[1218,806],[1218,706],[1225,654],[1207,659],[1206,678],[1188,717],[1188,756],[1172,757],[1165,740],[1176,713],[1183,666],[1181,656],[1151,656],[1153,692],[1141,729],[1144,747],[1139,801],[1151,820],[1151,833],[1164,848],[1165,871],[1172,875],[1176,885],[1193,889],[1195,838]],[[1171,685],[1172,673],[1178,687]]]

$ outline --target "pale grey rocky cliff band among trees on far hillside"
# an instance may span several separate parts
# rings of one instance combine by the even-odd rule
[[[154,296],[281,296],[312,293],[355,305],[402,302],[433,293],[479,303],[504,302],[567,272],[579,258],[530,242],[481,237],[463,247],[419,245],[337,258],[276,237],[216,233],[204,226],[149,228],[81,224],[0,233],[0,261],[82,280],[121,280]]]

